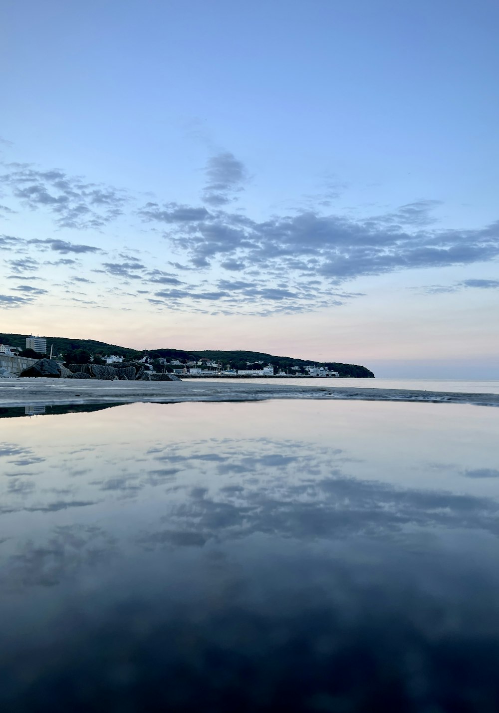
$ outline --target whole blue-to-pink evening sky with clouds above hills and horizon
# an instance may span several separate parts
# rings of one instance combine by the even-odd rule
[[[499,378],[495,0],[4,0],[0,332]]]

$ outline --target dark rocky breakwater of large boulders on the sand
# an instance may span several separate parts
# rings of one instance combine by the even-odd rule
[[[63,366],[53,359],[40,359],[29,369],[21,371],[21,376],[41,376],[45,379],[104,379],[107,381],[151,381],[159,378],[165,381],[180,381],[174,374],[150,374],[140,361],[125,361],[113,366],[101,364],[68,364]]]

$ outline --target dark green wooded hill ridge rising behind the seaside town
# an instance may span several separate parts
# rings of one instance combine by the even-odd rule
[[[0,334],[0,344],[9,344],[11,347],[19,347],[24,349],[26,346],[27,334]],[[106,342],[96,342],[94,339],[68,339],[66,337],[46,337],[47,349],[50,352],[53,344],[54,354],[66,354],[73,349],[86,349],[91,354],[118,354],[125,359],[137,359],[148,354],[156,358],[158,356],[163,359],[180,359],[185,361],[197,361],[202,356],[207,359],[220,361],[223,366],[230,366],[231,369],[246,369],[247,363],[255,366],[262,362],[272,364],[277,369],[283,371],[291,371],[293,366],[304,367],[309,364],[319,364],[327,366],[329,369],[338,371],[340,376],[353,376],[357,378],[373,378],[374,374],[365,366],[359,364],[341,364],[336,361],[317,361],[317,359],[294,359],[292,356],[274,356],[274,354],[266,354],[265,352],[245,352],[242,350],[236,351],[217,351],[213,349],[204,349],[202,351],[185,351],[185,349],[147,349],[137,351],[136,349],[127,349],[119,347],[117,344],[107,344]],[[302,369],[303,370],[303,369]]]

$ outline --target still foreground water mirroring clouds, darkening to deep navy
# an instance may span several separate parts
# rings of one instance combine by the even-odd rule
[[[361,401],[2,419],[0,710],[498,711],[498,433]]]

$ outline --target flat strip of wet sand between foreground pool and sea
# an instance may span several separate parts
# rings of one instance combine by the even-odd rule
[[[357,386],[288,386],[279,384],[209,383],[206,381],[103,381],[98,379],[3,379],[0,407],[66,404],[131,404],[135,401],[264,401],[331,399],[414,401],[419,403],[499,406],[499,394],[472,394],[417,389],[369,389]]]

